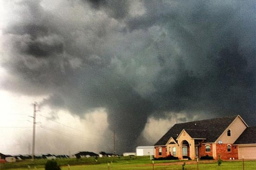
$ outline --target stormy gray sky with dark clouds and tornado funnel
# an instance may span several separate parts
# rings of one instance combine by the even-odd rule
[[[37,101],[49,118],[41,126],[82,129],[92,140],[83,145],[48,129],[39,132],[40,153],[71,144],[71,152],[94,144],[112,151],[114,131],[117,151],[134,151],[195,119],[240,114],[256,124],[253,0],[2,0],[0,7],[1,99],[16,109],[25,97],[26,113]],[[13,112],[4,107],[3,117]]]

